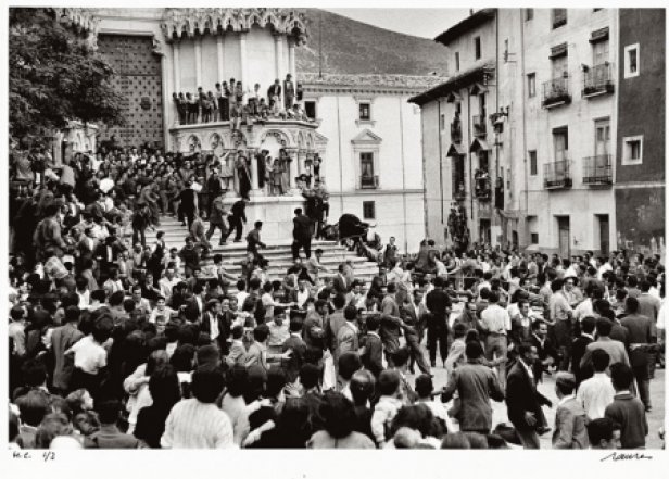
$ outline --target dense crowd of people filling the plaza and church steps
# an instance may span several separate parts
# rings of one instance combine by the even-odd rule
[[[315,172],[301,188],[320,216],[295,210],[294,264],[273,277],[262,222],[244,225],[249,169],[226,168],[113,141],[60,166],[12,152],[12,446],[538,449],[552,433],[557,449],[638,449],[658,432],[659,256],[430,239],[406,255],[365,234],[366,281],[311,251],[327,215]],[[180,249],[165,215],[188,227]],[[203,262],[216,229],[222,244],[247,231],[240,275],[225,250]],[[537,389],[546,375],[557,403]]]

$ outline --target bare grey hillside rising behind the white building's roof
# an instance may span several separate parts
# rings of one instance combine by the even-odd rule
[[[318,72],[321,25],[323,73],[446,74],[446,49],[432,40],[390,31],[324,10],[304,9],[304,12],[310,38],[307,45],[296,51],[299,72]]]

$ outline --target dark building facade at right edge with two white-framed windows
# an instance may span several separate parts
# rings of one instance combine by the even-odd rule
[[[621,9],[616,154],[618,248],[665,255],[666,11]]]

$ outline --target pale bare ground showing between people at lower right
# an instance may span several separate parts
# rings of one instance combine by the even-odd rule
[[[438,366],[432,369],[432,374],[434,375],[433,383],[434,390],[439,390],[446,385],[446,370],[443,367]],[[655,373],[655,378],[651,381],[651,401],[653,404],[653,411],[648,413],[648,436],[646,437],[646,448],[647,449],[661,449],[662,441],[659,439],[657,432],[659,428],[662,426],[665,420],[665,370],[658,369]],[[413,378],[411,380],[413,383]],[[555,379],[554,376],[545,376],[544,381],[539,385],[539,391],[548,398],[553,402],[553,407],[547,408],[544,407],[544,414],[546,415],[546,420],[548,421],[548,426],[554,428],[555,425],[555,407],[557,404],[557,396],[555,395]],[[498,423],[508,423],[508,418],[506,416],[506,403],[494,402],[492,404],[493,408],[493,426]],[[542,449],[551,449],[551,437],[553,431],[544,434],[541,438],[541,448]]]

